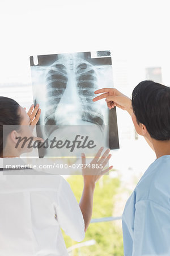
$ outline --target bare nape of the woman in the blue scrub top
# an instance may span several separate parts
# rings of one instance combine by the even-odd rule
[[[152,139],[152,144],[157,158],[163,155],[170,155],[170,140],[156,141],[156,139]]]

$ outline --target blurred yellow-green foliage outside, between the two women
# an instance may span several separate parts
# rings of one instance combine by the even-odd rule
[[[80,175],[70,176],[67,181],[74,192],[76,199],[80,200],[83,189],[83,177]],[[104,175],[97,183],[94,195],[94,210],[92,218],[113,216],[114,195],[120,187],[120,179],[112,179]],[[121,214],[120,214],[121,215]],[[71,240],[63,232],[66,247],[75,245],[77,242]],[[74,256],[123,256],[123,240],[121,220],[91,223],[86,232],[84,241],[95,240],[95,245],[83,246],[73,250]]]

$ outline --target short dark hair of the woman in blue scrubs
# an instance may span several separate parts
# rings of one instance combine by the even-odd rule
[[[131,101],[138,123],[158,141],[170,139],[170,88],[151,80],[140,82]]]

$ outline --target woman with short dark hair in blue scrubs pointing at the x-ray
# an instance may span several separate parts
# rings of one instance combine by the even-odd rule
[[[170,255],[170,88],[142,81],[132,100],[117,89],[103,88],[94,101],[106,98],[132,118],[135,130],[155,151],[156,160],[139,180],[122,215],[124,255]],[[141,152],[140,152],[141,154]]]

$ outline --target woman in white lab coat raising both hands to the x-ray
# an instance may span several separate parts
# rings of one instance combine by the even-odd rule
[[[0,97],[0,155],[19,158],[25,147],[15,147],[18,137],[33,136],[33,128],[40,117],[39,105],[32,105],[28,113],[11,98]],[[5,132],[3,133],[3,128]],[[41,138],[36,138],[41,140]],[[107,164],[109,149],[100,158],[97,152],[93,163]],[[99,159],[100,158],[100,159]],[[82,155],[82,163],[86,163]],[[68,255],[61,229],[75,241],[84,239],[92,215],[95,183],[112,166],[94,175],[83,172],[84,188],[78,204],[69,183],[59,175],[39,175],[36,170],[6,171],[0,179],[0,255],[54,256]],[[94,169],[92,171],[95,171]],[[2,173],[2,172],[1,172]],[[8,175],[10,174],[10,175]]]

